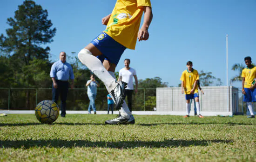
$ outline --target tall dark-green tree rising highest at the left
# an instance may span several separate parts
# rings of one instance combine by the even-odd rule
[[[1,51],[8,53],[13,60],[14,78],[19,78],[22,87],[34,86],[35,77],[31,75],[37,74],[31,73],[32,69],[27,69],[33,68],[30,65],[34,59],[48,58],[50,48],[40,45],[53,42],[56,28],[51,28],[53,24],[47,17],[47,10],[43,10],[32,0],[25,0],[18,6],[14,18],[7,19],[7,24],[11,26],[6,30],[7,37],[3,34],[0,36]],[[27,91],[27,107],[30,105],[29,98],[30,92]]]

